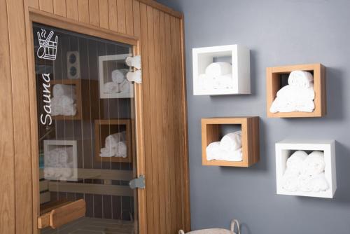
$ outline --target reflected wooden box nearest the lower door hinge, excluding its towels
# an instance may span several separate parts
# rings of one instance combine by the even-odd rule
[[[126,132],[127,157],[100,157],[106,137],[117,132]],[[102,162],[132,163],[132,121],[130,119],[98,119],[94,121],[95,159]]]

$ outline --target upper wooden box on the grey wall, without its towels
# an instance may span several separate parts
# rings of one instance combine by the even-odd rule
[[[315,109],[313,112],[289,112],[271,113],[269,111],[276,93],[282,88],[281,79],[283,75],[290,74],[295,70],[309,71],[314,75]],[[322,117],[327,113],[326,88],[325,88],[325,67],[322,64],[301,64],[283,67],[267,67],[266,69],[266,102],[267,117],[269,118],[298,118],[298,117]]]

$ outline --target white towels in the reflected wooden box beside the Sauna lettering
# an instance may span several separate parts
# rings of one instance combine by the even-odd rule
[[[74,85],[53,85],[51,99],[52,116],[76,115],[76,88]]]

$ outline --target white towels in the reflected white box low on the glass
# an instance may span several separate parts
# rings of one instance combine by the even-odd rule
[[[44,154],[45,179],[68,180],[73,176],[73,146],[57,147]]]

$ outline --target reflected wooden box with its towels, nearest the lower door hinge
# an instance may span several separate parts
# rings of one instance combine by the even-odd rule
[[[123,134],[124,132],[124,134]],[[98,119],[94,121],[95,159],[102,162],[131,163],[132,162],[132,121],[130,119]],[[123,136],[116,135],[120,133]],[[106,138],[115,136],[116,142],[106,146]],[[110,137],[111,139],[111,137]],[[126,146],[126,156],[122,156],[122,149],[113,148],[118,141]],[[120,146],[118,146],[120,147]],[[104,152],[102,152],[104,151]],[[103,153],[103,154],[102,154]]]

